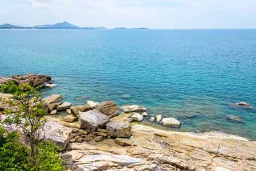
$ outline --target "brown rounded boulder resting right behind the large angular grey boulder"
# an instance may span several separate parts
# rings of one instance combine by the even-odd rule
[[[108,115],[109,118],[118,115],[119,109],[114,101],[103,101],[97,104],[96,111]]]

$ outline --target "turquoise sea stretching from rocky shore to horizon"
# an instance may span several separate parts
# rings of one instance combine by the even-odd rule
[[[144,105],[181,122],[165,129],[256,140],[255,109],[228,105],[256,107],[256,30],[0,30],[0,59],[0,76],[50,75],[43,96]]]

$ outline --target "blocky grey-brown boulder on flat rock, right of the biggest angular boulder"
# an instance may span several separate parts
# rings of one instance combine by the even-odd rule
[[[111,137],[129,137],[132,135],[132,125],[128,121],[112,120],[106,124],[107,133]]]

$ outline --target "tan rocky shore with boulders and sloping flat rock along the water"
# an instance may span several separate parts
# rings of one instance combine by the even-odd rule
[[[0,84],[10,79],[16,79],[17,84],[27,83],[20,81],[21,77],[0,78]],[[31,86],[52,83],[47,76],[36,78],[43,81],[31,79]],[[3,93],[0,96],[11,97]],[[87,101],[72,107],[67,101],[63,103],[61,95],[43,100],[49,115],[39,138],[51,139],[64,148],[62,157],[66,158],[69,170],[256,170],[256,142],[243,137],[148,127],[140,124],[147,109],[139,105],[119,108],[114,101]],[[6,108],[9,106],[0,101],[0,121],[5,119]],[[66,112],[67,116],[55,117],[59,112]],[[180,125],[172,117],[156,116],[149,120],[155,119],[168,127]]]

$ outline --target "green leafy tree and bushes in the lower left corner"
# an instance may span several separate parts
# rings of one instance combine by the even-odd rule
[[[6,162],[10,169],[7,170],[64,170],[64,160],[58,156],[59,146],[46,141],[42,143],[39,135],[46,123],[47,112],[43,109],[43,100],[40,94],[36,93],[37,88],[29,86],[29,83],[16,86],[14,82],[2,85],[4,93],[11,93],[13,99],[3,99],[14,109],[5,109],[7,118],[3,121],[9,125],[9,132],[0,129],[0,170]],[[15,127],[21,129],[14,130]],[[21,133],[23,141],[29,144],[29,148],[18,140]],[[3,155],[2,155],[3,154]],[[9,160],[11,162],[9,162]],[[22,162],[21,162],[22,160]],[[3,164],[3,166],[2,166]],[[6,169],[3,169],[6,170]]]

